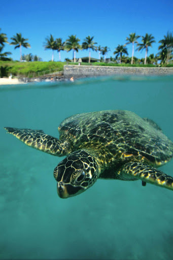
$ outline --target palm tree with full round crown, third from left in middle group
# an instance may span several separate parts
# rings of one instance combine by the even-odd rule
[[[76,51],[78,52],[81,46],[79,45],[80,39],[76,35],[68,36],[65,42],[65,49],[68,51],[73,50],[73,60],[76,62]]]

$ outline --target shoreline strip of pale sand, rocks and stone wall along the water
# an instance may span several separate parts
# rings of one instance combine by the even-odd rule
[[[47,75],[37,78],[0,78],[0,86],[26,84],[29,82],[62,82],[74,79],[99,76],[168,76],[173,75],[173,68],[144,68],[144,67],[110,67],[110,66],[78,66],[65,65],[61,76]]]

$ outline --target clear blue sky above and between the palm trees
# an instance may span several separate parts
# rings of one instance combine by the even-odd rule
[[[113,52],[118,44],[125,44],[131,32],[145,36],[146,32],[155,37],[156,43],[149,48],[149,54],[158,52],[158,41],[167,30],[173,31],[173,1],[4,1],[1,5],[0,28],[9,41],[17,32],[28,38],[31,49],[22,49],[23,54],[32,53],[44,61],[51,59],[51,50],[44,50],[44,42],[50,34],[65,41],[76,35],[82,43],[88,35],[101,46],[108,46]],[[141,42],[141,38],[139,39]],[[131,56],[132,46],[127,45]],[[12,52],[13,59],[19,59],[19,49],[6,45],[4,51]],[[61,51],[61,59],[72,58],[72,51]],[[134,52],[136,57],[144,57],[145,51]],[[77,57],[88,56],[88,51],[79,51]],[[97,58],[98,52],[91,52]],[[55,51],[54,60],[58,53]]]

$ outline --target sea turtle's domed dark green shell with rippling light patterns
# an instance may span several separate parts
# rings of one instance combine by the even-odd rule
[[[173,143],[148,118],[125,110],[107,110],[73,115],[58,127],[60,140],[72,151],[95,151],[107,161],[142,161],[160,166],[173,154]]]

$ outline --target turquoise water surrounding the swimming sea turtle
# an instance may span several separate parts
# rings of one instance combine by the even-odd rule
[[[57,196],[62,160],[6,135],[3,126],[58,137],[68,116],[130,110],[173,140],[173,77],[84,79],[0,89],[1,259],[171,259],[172,191],[141,181],[97,180],[79,196]],[[160,168],[173,176],[173,160]]]

